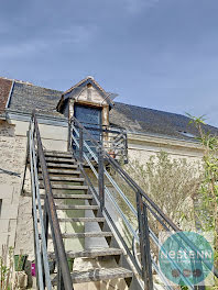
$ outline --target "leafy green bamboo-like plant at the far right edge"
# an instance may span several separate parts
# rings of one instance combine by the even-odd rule
[[[203,116],[188,116],[189,123],[193,123],[199,132],[198,141],[204,149],[204,179],[196,214],[200,230],[214,233],[215,266],[218,267],[218,137],[205,132]]]

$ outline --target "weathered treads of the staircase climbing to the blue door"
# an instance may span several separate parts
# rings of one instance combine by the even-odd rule
[[[79,211],[81,216],[79,217],[63,217],[58,219],[62,227],[62,223],[98,223],[99,231],[77,233],[67,232],[62,233],[63,239],[66,238],[87,238],[87,237],[102,237],[106,239],[108,247],[87,248],[81,250],[66,250],[67,258],[89,258],[96,259],[105,257],[107,259],[116,259],[118,263],[121,258],[122,250],[119,247],[111,247],[113,234],[111,231],[103,231],[106,227],[106,219],[99,210],[99,205],[95,201],[95,198],[89,193],[88,186],[85,185],[85,179],[79,177],[81,175],[76,159],[72,157],[72,154],[64,154],[57,152],[45,152],[45,160],[50,174],[50,180],[53,189],[53,197],[56,203],[56,211]],[[42,183],[41,188],[44,186]],[[62,193],[65,191],[66,193]],[[64,201],[64,202],[63,202]],[[86,201],[86,202],[85,202]],[[81,204],[84,203],[84,204]],[[91,211],[94,217],[83,216],[83,210]],[[50,236],[48,236],[50,237]],[[55,259],[55,254],[48,255]],[[72,274],[73,283],[110,280],[117,278],[123,278],[129,283],[132,277],[132,271],[122,267],[116,266],[113,268],[101,269],[94,268],[87,271],[77,271]],[[52,283],[56,283],[56,278]]]

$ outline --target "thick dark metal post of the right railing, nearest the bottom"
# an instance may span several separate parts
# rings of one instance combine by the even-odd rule
[[[137,208],[138,208],[138,221],[139,221],[141,263],[142,263],[142,278],[144,281],[144,289],[153,290],[148,212],[145,204],[143,204],[142,196],[140,194],[140,192],[137,193]]]

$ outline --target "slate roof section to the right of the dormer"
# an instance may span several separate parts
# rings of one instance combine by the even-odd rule
[[[110,111],[110,123],[132,132],[195,140],[197,129],[189,124],[188,116],[164,111],[116,102]],[[203,125],[203,129],[218,135],[218,129]]]

